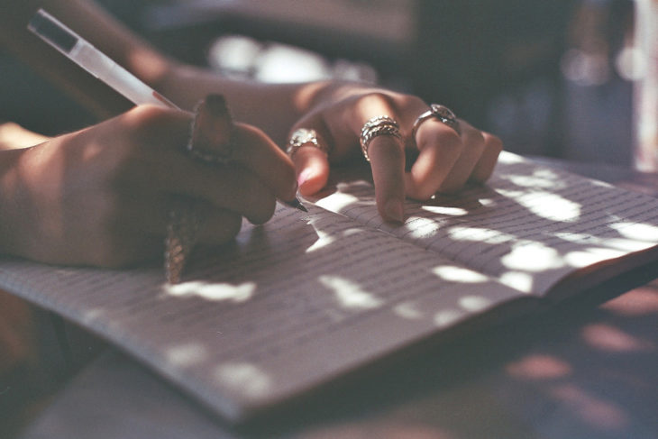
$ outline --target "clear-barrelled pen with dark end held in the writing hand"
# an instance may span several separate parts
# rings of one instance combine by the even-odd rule
[[[41,40],[46,41],[134,104],[152,104],[180,109],[43,9],[34,14],[27,27]],[[283,203],[308,212],[297,197]]]

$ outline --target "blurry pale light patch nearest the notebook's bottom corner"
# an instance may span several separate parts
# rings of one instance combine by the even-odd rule
[[[272,386],[270,376],[248,362],[226,362],[217,366],[215,380],[249,398],[266,397]]]

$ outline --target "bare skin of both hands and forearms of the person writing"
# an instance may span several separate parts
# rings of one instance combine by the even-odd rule
[[[224,241],[236,233],[240,216],[253,222],[267,220],[274,196],[289,200],[297,186],[302,195],[324,187],[330,164],[359,157],[361,126],[380,114],[397,119],[403,137],[398,141],[379,136],[369,148],[379,214],[391,222],[404,221],[405,197],[425,200],[436,192],[457,191],[468,181],[485,181],[502,149],[497,137],[464,121],[460,121],[461,136],[443,123],[427,120],[412,139],[412,125],[428,106],[416,96],[361,83],[256,84],[181,64],[91,1],[0,0],[0,6],[5,12],[0,14],[0,42],[7,50],[76,96],[99,119],[122,114],[27,151],[0,153],[2,252],[39,261],[104,266],[138,261],[146,254],[137,246],[126,251],[126,246],[142,240],[140,248],[154,253],[161,245],[156,238],[166,222],[168,200],[177,195],[198,200],[199,208],[216,215],[212,223],[217,229],[208,234]],[[242,166],[224,176],[211,176],[216,169],[180,157],[187,128],[175,121],[188,122],[189,114],[158,113],[152,108],[124,113],[131,105],[123,97],[26,31],[25,23],[39,7],[181,108],[193,108],[209,93],[223,94],[234,119],[243,123],[241,151],[249,153],[240,159]],[[169,123],[176,128],[169,128]],[[276,145],[283,148],[289,134],[300,127],[319,133],[320,142],[329,148],[328,157],[309,146],[300,148],[293,160],[280,153]],[[160,133],[169,136],[159,137]],[[405,149],[418,152],[409,172]],[[163,155],[167,159],[160,158],[160,150],[167,152]],[[196,173],[204,180],[197,181]],[[232,193],[240,194],[242,201],[231,199]],[[149,201],[151,197],[154,201]],[[70,224],[76,221],[81,223],[82,236],[95,237],[96,250],[86,249],[85,239],[77,245],[68,243],[73,236]],[[14,231],[18,231],[15,237]]]

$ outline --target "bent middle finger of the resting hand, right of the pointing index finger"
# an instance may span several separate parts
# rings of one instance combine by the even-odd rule
[[[436,119],[421,123],[415,140],[419,153],[406,175],[406,192],[409,197],[425,200],[448,178],[464,145],[457,132]]]

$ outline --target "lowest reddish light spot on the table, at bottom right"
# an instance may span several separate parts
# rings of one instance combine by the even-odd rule
[[[575,385],[557,386],[551,390],[551,394],[566,404],[581,421],[600,431],[621,430],[628,425],[628,416],[623,407],[597,398]]]

